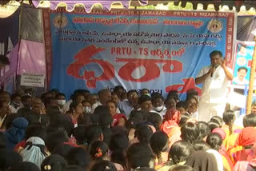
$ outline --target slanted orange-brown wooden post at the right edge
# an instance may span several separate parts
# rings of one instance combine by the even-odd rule
[[[255,68],[256,68],[256,36],[254,37],[254,55],[251,62],[250,68],[250,82],[249,82],[249,90],[246,102],[246,114],[250,114],[251,111],[251,104],[253,102],[253,93],[254,93],[254,75],[255,75]]]

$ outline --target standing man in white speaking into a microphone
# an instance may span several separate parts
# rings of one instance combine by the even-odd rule
[[[202,84],[202,96],[199,100],[199,121],[210,121],[213,116],[222,117],[226,106],[228,83],[233,74],[226,67],[222,52],[214,50],[210,53],[210,66],[204,67],[195,78],[197,85]]]

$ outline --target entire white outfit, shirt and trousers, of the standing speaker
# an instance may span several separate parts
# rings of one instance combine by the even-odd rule
[[[203,68],[198,77],[208,73],[210,66]],[[218,115],[222,117],[228,93],[229,80],[221,66],[215,70],[213,77],[206,78],[202,85],[202,96],[199,100],[199,121],[210,121],[210,118]]]

